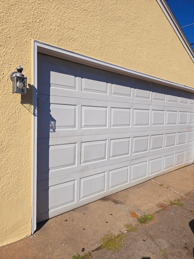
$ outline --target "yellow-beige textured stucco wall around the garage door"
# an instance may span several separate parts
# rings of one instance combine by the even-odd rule
[[[0,245],[31,234],[32,39],[194,87],[194,63],[156,0],[3,0],[0,30]],[[26,96],[12,94],[21,65]],[[22,102],[22,104],[21,104]]]

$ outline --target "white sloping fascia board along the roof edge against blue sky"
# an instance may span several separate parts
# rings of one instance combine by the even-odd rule
[[[189,56],[191,57],[192,61],[194,62],[194,51],[186,38],[184,32],[182,31],[179,23],[177,22],[176,18],[172,14],[168,4],[165,0],[156,0],[161,7],[162,11],[166,15],[167,19],[169,20],[170,24],[172,25],[173,29],[175,30],[177,36],[179,37],[182,45],[185,47],[186,51],[188,52]]]

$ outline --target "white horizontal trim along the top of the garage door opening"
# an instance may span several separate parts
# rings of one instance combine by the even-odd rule
[[[141,80],[146,80],[152,83],[161,84],[163,86],[174,87],[177,89],[194,92],[194,88],[188,87],[182,84],[170,82],[168,80],[161,79],[159,77],[150,76],[145,73],[141,73],[135,70],[131,70],[129,68],[125,68],[122,66],[117,66],[112,63],[108,63],[102,60],[98,60],[89,56],[85,56],[79,53],[75,53],[66,49],[62,49],[56,46],[49,45],[47,43],[43,43],[37,40],[34,40],[34,44],[37,46],[37,51],[40,53],[44,53],[50,56],[56,56],[62,59],[70,60],[73,62],[81,63],[87,66],[93,66],[99,69],[111,71],[114,73],[119,73],[122,75],[135,77]]]

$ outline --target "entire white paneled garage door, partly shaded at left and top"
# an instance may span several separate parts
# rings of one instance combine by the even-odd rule
[[[37,220],[193,163],[194,96],[38,54]]]

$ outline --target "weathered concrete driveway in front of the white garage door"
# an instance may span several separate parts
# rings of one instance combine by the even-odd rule
[[[176,199],[184,206],[159,208]],[[142,225],[132,213],[154,219]],[[189,165],[39,223],[32,236],[0,247],[0,258],[71,259],[86,251],[95,259],[194,258],[193,220],[194,165]],[[126,233],[126,224],[137,230]],[[99,249],[109,231],[125,232],[119,253]]]

